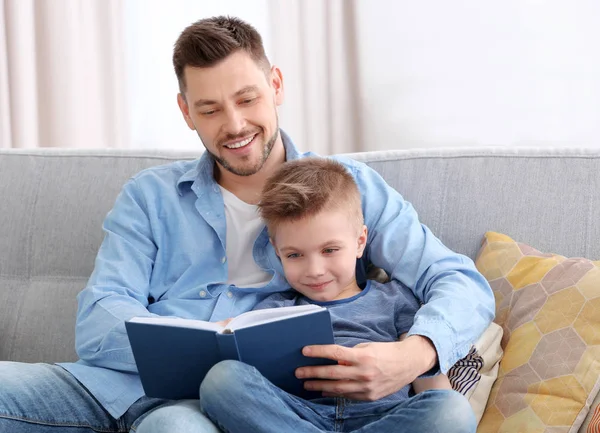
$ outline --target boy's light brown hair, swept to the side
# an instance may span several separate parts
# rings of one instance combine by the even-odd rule
[[[258,209],[271,237],[282,222],[312,217],[323,210],[343,209],[363,225],[360,192],[342,164],[328,158],[301,158],[284,163],[267,179]]]

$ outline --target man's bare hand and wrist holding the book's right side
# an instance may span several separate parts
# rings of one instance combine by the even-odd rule
[[[306,346],[302,354],[338,361],[338,365],[298,368],[298,378],[327,379],[307,381],[306,389],[323,391],[325,397],[353,400],[373,401],[393,394],[437,364],[435,347],[420,335],[392,343],[361,343],[352,348]]]

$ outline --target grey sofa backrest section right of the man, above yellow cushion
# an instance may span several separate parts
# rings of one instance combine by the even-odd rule
[[[367,162],[445,245],[475,258],[486,231],[600,260],[600,149],[371,152]]]

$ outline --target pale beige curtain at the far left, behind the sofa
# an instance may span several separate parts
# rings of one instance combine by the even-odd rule
[[[1,0],[0,147],[129,142],[121,0]]]

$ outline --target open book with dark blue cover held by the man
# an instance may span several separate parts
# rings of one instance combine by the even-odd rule
[[[173,317],[134,317],[125,322],[138,372],[149,397],[197,399],[204,376],[221,360],[237,359],[258,369],[283,390],[304,397],[294,371],[335,361],[308,358],[304,346],[333,344],[331,318],[318,305],[249,311],[222,327]]]

